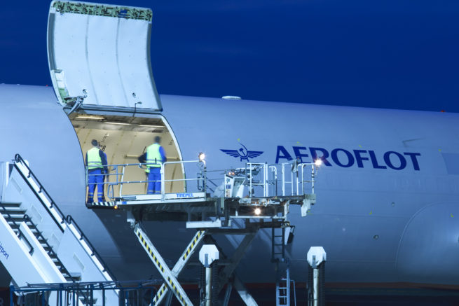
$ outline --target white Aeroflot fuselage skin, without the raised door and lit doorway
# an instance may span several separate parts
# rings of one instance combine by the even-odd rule
[[[149,277],[153,267],[146,256],[130,250],[135,242],[122,230],[129,230],[124,216],[86,209],[82,141],[53,91],[0,85],[0,92],[1,161],[15,153],[29,160],[43,186],[65,214],[81,223],[119,279]],[[458,283],[452,268],[459,263],[457,114],[160,98],[161,115],[182,160],[196,160],[203,152],[208,169],[224,170],[245,162],[322,159],[311,214],[302,218],[299,208],[289,214],[296,225],[287,246],[293,279],[305,281],[308,249],[323,246],[330,282]],[[164,144],[166,153],[169,145]],[[210,179],[222,179],[214,173]],[[186,176],[196,176],[196,169],[186,168]],[[107,230],[117,226],[119,235]],[[180,223],[151,223],[149,230],[171,261],[192,235]],[[273,282],[274,271],[269,269],[273,275],[266,277],[266,266],[270,238],[261,232],[238,272],[246,281]]]

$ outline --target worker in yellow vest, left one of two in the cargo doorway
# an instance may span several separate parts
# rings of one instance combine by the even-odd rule
[[[86,167],[88,167],[88,203],[94,201],[94,192],[97,185],[97,201],[104,202],[104,174],[109,173],[107,155],[99,149],[97,140],[91,141],[93,148],[86,152]]]

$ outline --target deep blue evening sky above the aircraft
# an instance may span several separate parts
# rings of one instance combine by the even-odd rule
[[[104,2],[153,9],[160,94],[459,112],[457,0]],[[2,7],[0,83],[50,84],[49,2]]]

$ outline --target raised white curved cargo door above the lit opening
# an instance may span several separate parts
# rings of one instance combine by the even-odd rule
[[[150,61],[152,12],[53,1],[48,17],[48,63],[60,104],[71,111],[162,111]]]

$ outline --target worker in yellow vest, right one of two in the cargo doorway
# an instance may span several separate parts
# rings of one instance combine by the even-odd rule
[[[161,165],[167,161],[164,148],[160,145],[161,137],[156,136],[154,144],[146,148],[146,152],[139,156],[139,162],[146,163],[149,195],[161,193]]]

